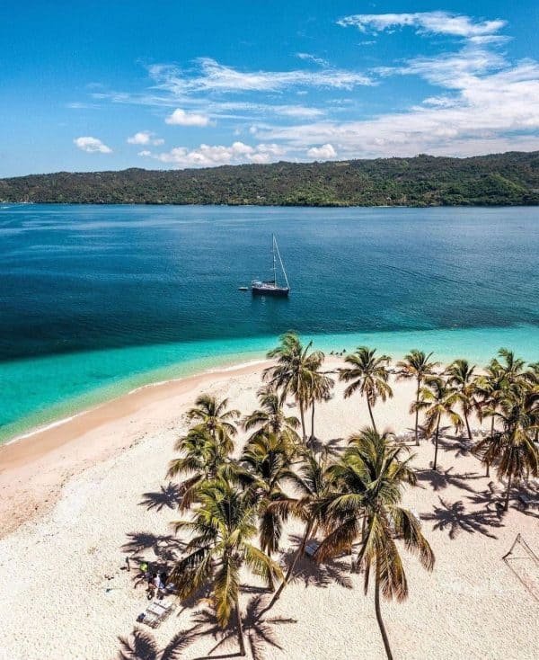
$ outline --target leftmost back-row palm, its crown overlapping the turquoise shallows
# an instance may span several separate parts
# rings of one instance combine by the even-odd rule
[[[268,358],[277,358],[277,364],[264,370],[263,379],[282,391],[283,398],[291,394],[299,406],[303,440],[305,430],[305,407],[309,401],[309,391],[314,379],[314,373],[323,363],[323,352],[311,350],[313,342],[306,346],[300,342],[296,333],[287,332],[280,337],[277,348],[268,352]]]

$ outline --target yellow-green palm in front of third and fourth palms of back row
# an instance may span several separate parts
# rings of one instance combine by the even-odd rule
[[[444,379],[437,376],[428,376],[425,379],[425,387],[420,389],[420,402],[417,404],[419,410],[424,411],[427,420],[426,433],[434,433],[434,461],[432,469],[437,468],[437,448],[440,433],[440,422],[444,416],[448,417],[455,430],[461,428],[463,420],[455,411],[458,402],[458,393],[449,387]]]

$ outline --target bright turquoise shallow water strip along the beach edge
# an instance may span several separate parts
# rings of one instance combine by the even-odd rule
[[[309,339],[327,353],[367,344],[395,359],[415,347],[435,352],[440,361],[465,356],[479,365],[502,346],[517,347],[529,361],[539,356],[536,326],[305,336],[305,341]],[[148,383],[261,359],[276,341],[275,336],[263,336],[155,344],[4,362],[0,379],[10,384],[9,408],[4,407],[0,441]]]

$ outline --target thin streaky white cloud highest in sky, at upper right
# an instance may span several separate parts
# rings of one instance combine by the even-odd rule
[[[494,34],[507,24],[499,19],[475,21],[470,16],[449,12],[357,13],[345,16],[337,23],[342,27],[356,27],[362,32],[411,27],[419,33],[446,34],[464,39]]]

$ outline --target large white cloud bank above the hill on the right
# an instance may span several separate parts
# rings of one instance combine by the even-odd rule
[[[408,111],[372,120],[259,127],[257,137],[285,142],[288,150],[315,148],[324,140],[340,157],[468,156],[537,148],[539,64],[525,61],[487,75],[455,73],[455,79],[447,72],[442,79],[454,94],[429,97]]]

